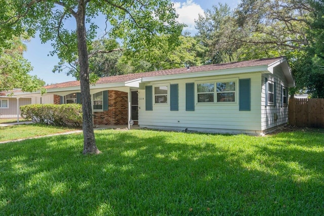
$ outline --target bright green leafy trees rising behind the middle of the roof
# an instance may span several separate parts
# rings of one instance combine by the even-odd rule
[[[161,41],[164,36],[161,36]],[[163,43],[162,43],[163,44]],[[202,65],[206,48],[195,37],[184,33],[179,37],[179,45],[173,49],[161,46],[125,54],[115,41],[107,38],[94,40],[89,55],[90,72],[98,77],[139,73],[185,66]],[[112,50],[112,52],[106,52]],[[72,68],[74,73],[74,69]]]

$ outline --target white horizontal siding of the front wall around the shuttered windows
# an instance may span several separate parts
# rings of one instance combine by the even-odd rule
[[[251,111],[239,111],[238,104],[238,80],[251,79]],[[194,111],[186,111],[185,107],[185,84],[206,80],[221,81],[222,79],[235,79],[236,102],[197,104],[195,98]],[[261,74],[240,74],[231,76],[215,76],[195,79],[179,79],[161,82],[150,82],[146,85],[154,84],[178,84],[179,111],[170,111],[170,101],[166,105],[154,104],[153,110],[145,110],[145,90],[139,90],[139,125],[140,127],[172,129],[183,131],[213,132],[213,133],[261,133]],[[168,92],[170,99],[170,88]],[[196,90],[195,90],[196,95]],[[154,94],[153,94],[154,98]]]

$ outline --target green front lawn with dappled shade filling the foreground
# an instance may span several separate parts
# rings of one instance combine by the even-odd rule
[[[324,215],[324,131],[96,131],[0,145],[0,215]]]

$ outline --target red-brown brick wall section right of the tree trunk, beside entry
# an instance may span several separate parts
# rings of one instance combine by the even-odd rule
[[[94,124],[128,124],[128,94],[108,91],[108,111],[94,112]]]

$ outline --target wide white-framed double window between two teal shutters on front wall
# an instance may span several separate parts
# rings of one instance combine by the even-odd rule
[[[236,79],[196,83],[197,103],[236,102]]]

